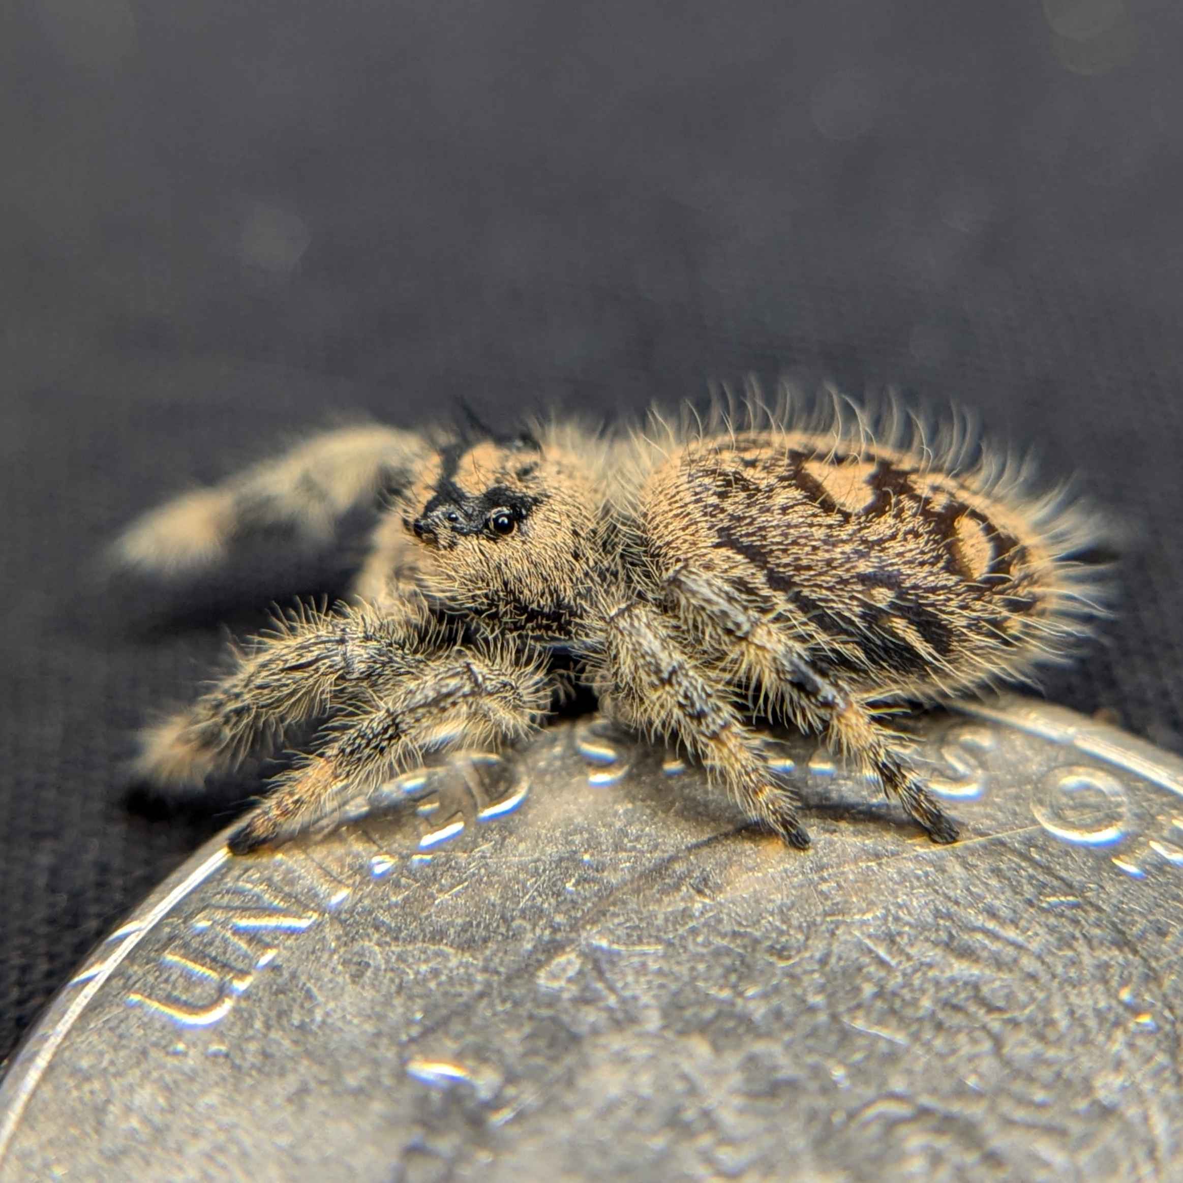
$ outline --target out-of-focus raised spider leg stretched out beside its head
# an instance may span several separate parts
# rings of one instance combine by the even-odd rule
[[[284,529],[297,544],[313,545],[383,486],[405,483],[428,451],[420,437],[376,424],[325,432],[146,513],[115,541],[110,557],[167,577],[218,567],[235,538],[257,530]]]

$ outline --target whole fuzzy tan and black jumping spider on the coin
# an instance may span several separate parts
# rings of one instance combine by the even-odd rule
[[[562,653],[606,713],[679,741],[791,846],[809,836],[756,713],[823,732],[953,841],[887,719],[1062,658],[1098,612],[1071,557],[1087,523],[1027,493],[1020,466],[959,466],[956,442],[919,428],[881,424],[875,442],[840,406],[827,422],[749,408],[620,434],[353,427],[164,505],[121,538],[125,563],[183,573],[225,560],[247,524],[327,535],[387,498],[350,601],[239,652],[146,730],[141,771],[201,782],[330,720],[234,830],[246,853],[426,750],[525,735]]]

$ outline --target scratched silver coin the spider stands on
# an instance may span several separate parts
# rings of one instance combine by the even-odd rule
[[[12,1061],[0,1181],[1181,1177],[1183,761],[932,716],[939,847],[768,743],[806,854],[596,719],[211,843]]]

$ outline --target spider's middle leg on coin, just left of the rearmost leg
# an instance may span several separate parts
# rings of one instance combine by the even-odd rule
[[[632,602],[607,615],[605,638],[597,689],[608,713],[653,736],[677,736],[751,817],[804,849],[796,794],[769,768],[726,680],[693,655],[673,622]]]

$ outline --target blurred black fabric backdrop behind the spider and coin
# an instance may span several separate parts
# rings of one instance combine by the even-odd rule
[[[4,6],[0,1054],[228,820],[129,795],[137,722],[219,620],[340,584],[272,548],[203,609],[104,590],[103,539],[342,411],[956,399],[1124,523],[1120,614],[1048,694],[1178,749],[1181,34],[1152,0]]]

